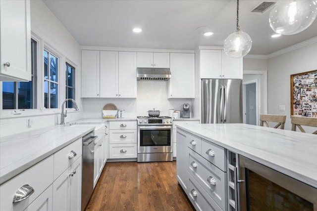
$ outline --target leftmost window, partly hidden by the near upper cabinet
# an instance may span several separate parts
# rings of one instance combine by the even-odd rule
[[[32,79],[29,82],[2,82],[2,109],[37,108],[37,42],[31,40]]]

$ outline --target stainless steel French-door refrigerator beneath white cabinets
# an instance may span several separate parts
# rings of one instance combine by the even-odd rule
[[[242,80],[202,79],[202,123],[242,122]]]

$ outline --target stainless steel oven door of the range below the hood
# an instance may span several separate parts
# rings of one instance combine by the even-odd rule
[[[138,153],[171,153],[171,126],[139,126]]]

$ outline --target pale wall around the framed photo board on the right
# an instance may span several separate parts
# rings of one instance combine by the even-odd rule
[[[285,129],[291,129],[290,75],[317,70],[316,49],[317,42],[268,59],[268,113],[287,115]],[[285,105],[285,111],[279,111],[279,105]]]

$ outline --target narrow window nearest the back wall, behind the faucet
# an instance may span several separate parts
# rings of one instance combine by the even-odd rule
[[[66,62],[66,99],[75,99],[75,68]],[[73,108],[72,101],[66,101],[66,108]]]

